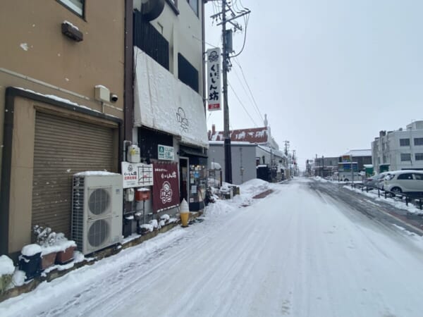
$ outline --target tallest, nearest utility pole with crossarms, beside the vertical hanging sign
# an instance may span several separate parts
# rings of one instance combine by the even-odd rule
[[[229,2],[229,3],[228,3]],[[230,13],[230,17],[226,18],[226,13]],[[231,1],[222,0],[222,11],[212,15],[212,18],[217,18],[221,15],[222,25],[222,55],[223,55],[223,139],[224,139],[224,150],[225,150],[225,181],[232,184],[232,155],[231,155],[231,136],[229,135],[229,106],[228,106],[228,71],[229,71],[229,53],[232,52],[232,47],[228,47],[228,44],[232,44],[232,30],[226,30],[226,23],[233,25],[235,30],[242,30],[242,27],[238,25],[234,20],[240,18],[243,15],[249,14],[251,11],[247,8],[241,12],[235,12],[231,8]],[[228,39],[229,42],[228,43]]]

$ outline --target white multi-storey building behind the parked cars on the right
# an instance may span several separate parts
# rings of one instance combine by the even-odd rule
[[[403,130],[381,131],[372,142],[372,161],[376,173],[384,170],[423,170],[423,120]]]

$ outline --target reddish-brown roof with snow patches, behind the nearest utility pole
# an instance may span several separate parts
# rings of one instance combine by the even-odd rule
[[[269,142],[269,132],[267,127],[250,128],[229,131],[231,141],[249,142],[249,143],[266,143]],[[223,131],[208,133],[209,141],[223,141]]]

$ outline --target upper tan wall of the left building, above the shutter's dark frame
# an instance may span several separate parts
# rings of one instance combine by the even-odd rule
[[[65,20],[83,33],[82,42],[62,34]],[[8,86],[52,94],[123,118],[124,21],[124,1],[85,1],[85,18],[58,1],[2,1],[0,127]],[[95,101],[95,85],[109,88],[118,101]]]

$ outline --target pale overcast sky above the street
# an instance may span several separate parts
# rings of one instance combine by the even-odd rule
[[[219,3],[206,4],[206,42],[214,46],[221,26],[209,16]],[[423,1],[232,3],[252,13],[228,74],[231,129],[263,126],[247,85],[279,147],[289,140],[300,166],[316,154],[370,149],[380,130],[423,118]],[[235,53],[243,39],[235,33]],[[212,124],[223,130],[223,111],[207,113]]]

